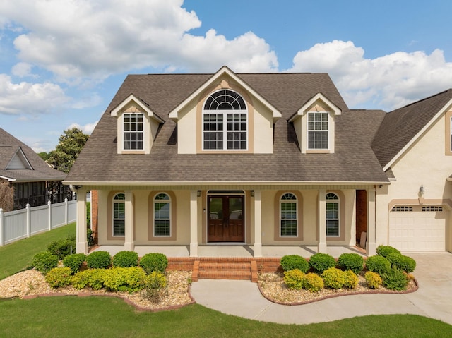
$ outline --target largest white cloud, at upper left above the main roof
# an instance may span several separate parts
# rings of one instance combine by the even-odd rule
[[[233,40],[209,30],[190,35],[201,21],[182,0],[1,1],[0,13],[25,31],[18,58],[58,80],[103,80],[146,67],[214,71],[269,71],[278,66],[266,42],[247,32]],[[23,11],[27,8],[27,11]],[[30,16],[30,13],[33,13]]]

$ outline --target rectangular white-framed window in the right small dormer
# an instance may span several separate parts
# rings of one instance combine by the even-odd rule
[[[309,111],[308,149],[328,149],[328,112]]]

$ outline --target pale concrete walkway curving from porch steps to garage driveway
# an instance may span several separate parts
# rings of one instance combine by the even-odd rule
[[[222,313],[283,324],[311,324],[362,315],[415,314],[452,325],[452,254],[410,254],[419,289],[411,294],[366,294],[284,306],[263,298],[248,281],[201,279],[191,285],[196,303]]]

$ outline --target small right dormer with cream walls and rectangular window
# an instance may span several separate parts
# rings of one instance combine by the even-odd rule
[[[289,122],[294,124],[303,154],[334,153],[335,116],[341,113],[321,92],[298,109]]]

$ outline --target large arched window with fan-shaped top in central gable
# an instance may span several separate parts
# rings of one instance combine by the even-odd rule
[[[242,96],[218,90],[203,107],[203,150],[246,150],[248,110]]]

